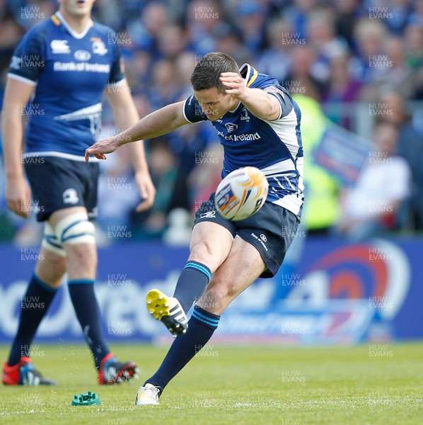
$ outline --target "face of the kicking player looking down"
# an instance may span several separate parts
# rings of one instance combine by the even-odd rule
[[[231,94],[221,93],[216,87],[194,91],[194,96],[199,102],[202,111],[211,121],[222,118],[228,111],[233,110],[239,102]]]

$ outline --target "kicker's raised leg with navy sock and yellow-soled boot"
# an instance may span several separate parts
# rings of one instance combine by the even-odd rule
[[[185,334],[186,313],[199,299],[212,273],[219,268],[231,250],[233,237],[225,227],[214,222],[199,222],[192,229],[190,256],[176,285],[173,297],[153,289],[147,294],[150,314],[174,335]]]

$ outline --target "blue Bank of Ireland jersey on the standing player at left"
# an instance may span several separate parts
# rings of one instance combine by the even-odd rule
[[[57,12],[28,31],[13,52],[8,77],[35,86],[25,155],[83,161],[100,132],[106,86],[122,84],[123,64],[111,28],[90,21],[75,33]]]

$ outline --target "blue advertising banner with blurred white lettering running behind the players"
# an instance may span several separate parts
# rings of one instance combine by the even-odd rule
[[[296,271],[258,279],[222,315],[215,341],[294,345],[423,338],[423,239],[308,239]],[[0,246],[0,342],[11,341],[40,251]],[[121,244],[99,250],[95,291],[110,341],[171,340],[144,303],[151,288],[173,293],[187,248]],[[27,306],[28,307],[28,306]],[[75,341],[81,329],[66,282],[37,341]]]

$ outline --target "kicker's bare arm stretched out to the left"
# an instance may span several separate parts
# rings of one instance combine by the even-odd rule
[[[158,111],[146,115],[135,125],[118,135],[108,139],[99,140],[93,146],[88,147],[85,152],[85,159],[88,161],[90,155],[98,159],[106,159],[105,154],[115,152],[115,150],[127,143],[138,140],[153,139],[154,137],[166,135],[185,124],[190,124],[185,119],[183,108],[185,101],[171,103]]]

